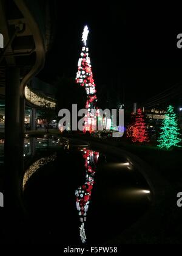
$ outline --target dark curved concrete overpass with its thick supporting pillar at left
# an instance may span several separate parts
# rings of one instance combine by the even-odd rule
[[[0,0],[0,94],[5,96],[5,182],[8,213],[19,212],[24,171],[24,88],[44,67],[52,38],[50,13],[54,1]],[[12,11],[13,10],[13,11]],[[53,13],[53,12],[52,12]]]

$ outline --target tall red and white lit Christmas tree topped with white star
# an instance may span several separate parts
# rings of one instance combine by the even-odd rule
[[[87,101],[86,109],[87,118],[85,120],[84,131],[92,132],[93,126],[96,126],[96,119],[93,116],[92,110],[96,107],[96,90],[95,83],[93,80],[92,66],[90,64],[89,48],[87,48],[87,36],[89,34],[89,29],[87,26],[84,27],[82,41],[83,48],[81,51],[81,58],[78,60],[78,72],[76,73],[76,83],[80,84],[86,89]]]

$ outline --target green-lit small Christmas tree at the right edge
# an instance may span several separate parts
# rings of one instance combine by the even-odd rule
[[[164,149],[169,149],[172,146],[177,146],[181,141],[180,129],[178,128],[177,116],[174,112],[174,107],[169,105],[165,118],[161,126],[161,133],[158,139],[157,146]]]

